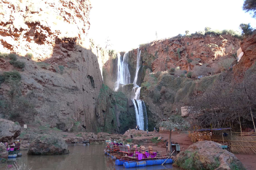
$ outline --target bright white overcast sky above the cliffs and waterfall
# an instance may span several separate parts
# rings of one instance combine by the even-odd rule
[[[244,0],[90,0],[89,37],[96,44],[128,51],[142,43],[152,42],[204,30],[232,29],[256,19],[242,10]],[[157,38],[156,38],[157,32]]]

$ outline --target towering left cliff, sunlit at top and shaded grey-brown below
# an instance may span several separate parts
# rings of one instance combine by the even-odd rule
[[[25,62],[24,69],[18,69],[22,94],[35,105],[37,122],[62,130],[78,125],[80,131],[96,131],[102,76],[86,38],[90,2],[1,0],[0,4],[0,51],[17,53],[18,61]],[[23,57],[27,53],[33,58]],[[7,58],[1,59],[1,73],[14,69]],[[8,89],[3,83],[0,93],[7,96]]]

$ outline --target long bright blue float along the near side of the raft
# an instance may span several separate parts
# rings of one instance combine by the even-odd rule
[[[124,162],[123,166],[125,168],[134,168],[134,167],[142,167],[142,166],[150,166],[150,165],[161,165],[164,163],[166,159],[156,159],[156,160],[146,160],[146,161],[136,161],[136,162]],[[172,159],[167,159],[164,164],[172,163]]]

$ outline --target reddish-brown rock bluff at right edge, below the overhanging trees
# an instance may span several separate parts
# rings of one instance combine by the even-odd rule
[[[234,66],[234,72],[240,74],[250,68],[256,61],[256,30],[244,38],[240,43],[242,51],[244,52],[238,64]]]

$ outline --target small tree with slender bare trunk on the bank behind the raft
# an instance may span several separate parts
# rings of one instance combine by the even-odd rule
[[[171,137],[173,131],[184,131],[188,130],[190,125],[184,118],[178,115],[171,115],[168,120],[161,121],[157,124],[158,127],[163,127],[166,130],[169,130],[168,138],[168,150],[171,150]]]

